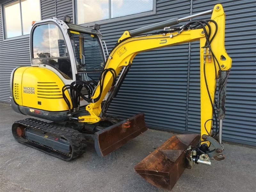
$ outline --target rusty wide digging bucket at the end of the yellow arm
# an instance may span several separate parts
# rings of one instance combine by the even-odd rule
[[[186,168],[186,149],[196,146],[199,139],[198,134],[174,135],[134,169],[150,184],[171,190]]]

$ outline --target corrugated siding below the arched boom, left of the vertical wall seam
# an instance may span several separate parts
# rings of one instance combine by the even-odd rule
[[[134,59],[109,113],[129,117],[144,112],[148,126],[184,131],[188,76],[184,60],[188,59],[188,44],[178,47],[180,52],[173,53],[176,62],[161,57],[158,51],[140,53]],[[163,50],[174,51],[165,48],[159,52]]]

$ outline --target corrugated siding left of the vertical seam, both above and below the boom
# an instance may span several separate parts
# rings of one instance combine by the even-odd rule
[[[189,15],[190,1],[156,1],[156,14],[102,24],[111,50],[125,30]],[[179,51],[177,51],[179,50]],[[188,44],[139,53],[108,113],[123,118],[144,112],[149,127],[185,131]]]

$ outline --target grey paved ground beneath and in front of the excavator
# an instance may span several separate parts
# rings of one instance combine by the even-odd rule
[[[93,143],[88,143],[82,157],[65,162],[15,141],[12,123],[28,116],[15,113],[9,104],[0,103],[0,109],[1,192],[164,191],[133,167],[172,133],[148,130],[105,157],[97,156]],[[255,148],[227,143],[225,148],[225,160],[186,169],[172,192],[256,191]]]

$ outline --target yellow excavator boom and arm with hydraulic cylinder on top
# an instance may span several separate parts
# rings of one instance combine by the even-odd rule
[[[211,39],[210,48],[205,46],[207,42],[204,30],[202,28],[190,30],[181,29],[181,32],[174,33],[168,32],[168,30],[166,30],[166,32],[159,35],[149,34],[144,36],[133,36],[138,35],[138,33],[141,32],[156,30],[170,24],[173,25],[179,23],[179,20],[183,21],[190,19],[193,16],[188,16],[181,19],[176,18],[167,20],[166,22],[161,22],[160,24],[157,23],[156,25],[149,26],[148,29],[145,27],[135,29],[130,32],[125,31],[118,40],[118,44],[116,44],[108,56],[104,69],[104,82],[101,82],[102,86],[96,87],[94,94],[92,95],[93,102],[86,106],[86,110],[90,112],[90,115],[80,116],[79,119],[81,119],[81,122],[91,121],[92,117],[100,116],[102,112],[107,110],[109,103],[116,96],[119,87],[121,86],[126,74],[128,73],[129,68],[132,65],[132,60],[138,53],[167,46],[200,41],[201,137],[204,134],[208,134],[207,132],[210,132],[211,129],[211,121],[205,125],[206,129],[204,128],[204,123],[208,119],[212,119],[213,115],[212,110],[209,110],[212,109],[212,103],[210,102],[209,94],[211,100],[213,101],[216,88],[216,79],[219,71],[229,71],[231,68],[231,58],[228,56],[224,46],[225,13],[221,4],[215,5],[214,9],[212,10],[202,12],[201,14],[198,13],[195,15],[195,17],[202,14],[209,14],[211,12],[211,21],[205,26],[207,33],[209,33],[209,27],[212,31],[209,36],[209,39]],[[216,34],[214,31],[216,31]],[[214,52],[214,55],[212,55],[212,52]],[[217,58],[217,60],[215,58]],[[112,85],[112,83],[113,81],[115,82],[115,77],[111,72],[109,72],[109,70],[115,71],[116,74],[119,74],[122,70],[121,75],[114,85]],[[207,86],[205,85],[206,83]],[[105,105],[101,109],[102,100],[105,98],[109,90],[112,91],[110,92]],[[209,94],[207,90],[209,91]],[[95,119],[95,121],[97,120]]]

